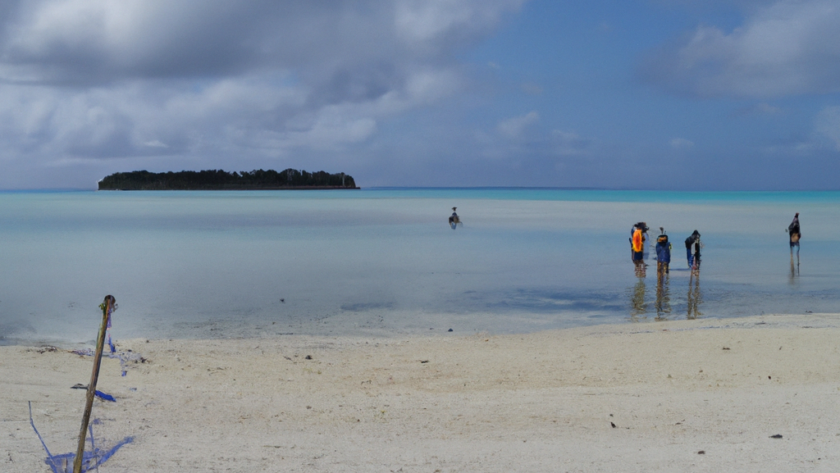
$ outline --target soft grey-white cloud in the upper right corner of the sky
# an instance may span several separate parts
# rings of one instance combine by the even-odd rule
[[[726,32],[700,26],[642,70],[699,96],[780,97],[840,90],[840,3],[778,0]]]

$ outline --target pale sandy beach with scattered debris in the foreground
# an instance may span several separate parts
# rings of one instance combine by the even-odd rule
[[[123,340],[101,471],[836,471],[840,315],[525,335]],[[0,347],[0,470],[75,451],[91,357]],[[773,438],[777,436],[777,438]],[[781,436],[781,438],[778,438]]]

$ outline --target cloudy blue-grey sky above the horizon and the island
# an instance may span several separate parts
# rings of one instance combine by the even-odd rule
[[[0,0],[0,189],[840,189],[840,0]]]

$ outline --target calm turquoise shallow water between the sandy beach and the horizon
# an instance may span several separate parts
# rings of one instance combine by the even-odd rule
[[[838,204],[837,192],[0,193],[0,337],[89,340],[109,293],[116,338],[838,312]],[[455,231],[452,206],[464,221]],[[803,248],[791,271],[784,230],[797,211]],[[674,241],[661,283],[653,260],[634,274],[637,221]],[[694,229],[705,244],[699,281],[682,244]]]

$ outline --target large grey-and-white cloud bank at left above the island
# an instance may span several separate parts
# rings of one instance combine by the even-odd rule
[[[523,1],[0,2],[2,159],[340,150],[459,90]]]

